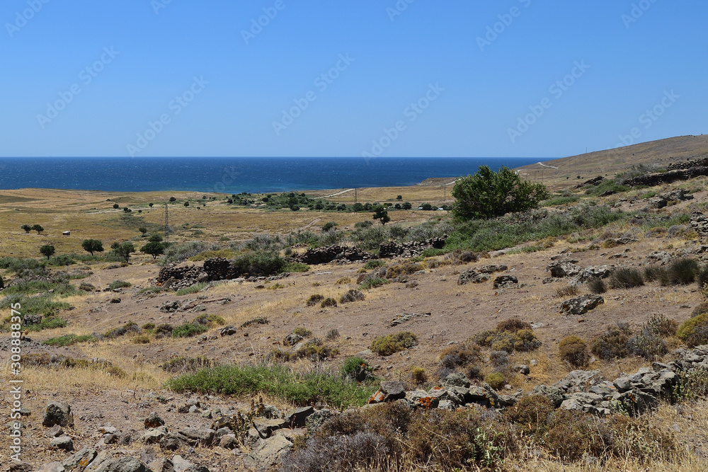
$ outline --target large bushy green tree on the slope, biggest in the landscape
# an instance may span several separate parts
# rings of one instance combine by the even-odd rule
[[[476,174],[457,180],[452,196],[457,200],[452,209],[455,217],[488,219],[537,207],[548,197],[548,190],[542,183],[523,180],[510,168],[494,172],[480,166]]]

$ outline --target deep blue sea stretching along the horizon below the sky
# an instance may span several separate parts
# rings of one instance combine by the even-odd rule
[[[0,158],[0,189],[61,188],[148,192],[284,192],[398,187],[426,178],[515,168],[539,158],[156,157]]]

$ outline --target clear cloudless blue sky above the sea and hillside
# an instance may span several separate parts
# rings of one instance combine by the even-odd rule
[[[552,158],[701,134],[707,20],[705,0],[4,0],[0,156]]]

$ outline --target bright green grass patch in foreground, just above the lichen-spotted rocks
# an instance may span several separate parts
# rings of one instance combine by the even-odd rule
[[[166,384],[177,392],[246,396],[266,393],[295,405],[326,403],[336,408],[365,405],[374,386],[329,372],[293,372],[282,365],[224,365],[179,376]]]

